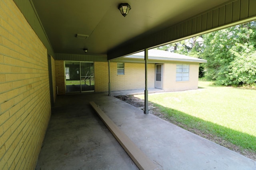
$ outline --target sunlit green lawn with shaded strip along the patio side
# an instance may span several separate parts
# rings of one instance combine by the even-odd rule
[[[181,126],[256,152],[256,90],[214,86],[207,81],[198,86],[198,90],[149,94],[148,100]]]

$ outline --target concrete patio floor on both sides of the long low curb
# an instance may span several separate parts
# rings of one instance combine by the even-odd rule
[[[106,93],[58,96],[36,170],[137,170],[94,101],[161,170],[256,170],[256,162]]]

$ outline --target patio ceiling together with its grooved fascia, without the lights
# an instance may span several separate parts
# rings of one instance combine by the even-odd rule
[[[125,18],[118,0],[14,2],[50,55],[85,55],[86,48],[108,60],[256,20],[255,0],[128,0]]]

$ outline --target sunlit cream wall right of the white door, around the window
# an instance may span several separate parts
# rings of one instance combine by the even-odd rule
[[[189,81],[176,82],[176,64],[189,64]],[[198,88],[199,63],[163,64],[163,89],[165,92]]]

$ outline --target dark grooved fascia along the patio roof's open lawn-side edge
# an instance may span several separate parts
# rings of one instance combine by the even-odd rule
[[[255,9],[256,0],[230,0],[181,23],[152,33],[150,36],[115,47],[108,52],[108,60],[254,21],[256,20]]]

